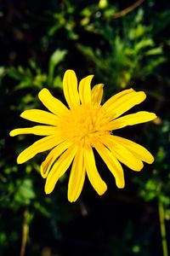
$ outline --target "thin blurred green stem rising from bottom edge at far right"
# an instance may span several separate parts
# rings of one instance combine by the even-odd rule
[[[163,250],[163,256],[168,256],[167,250],[167,234],[166,234],[166,226],[165,226],[165,211],[162,202],[158,201],[159,207],[159,219],[160,219],[160,229],[161,229],[161,246]]]

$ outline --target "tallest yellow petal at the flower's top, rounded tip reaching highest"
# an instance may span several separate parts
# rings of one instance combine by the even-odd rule
[[[63,78],[63,90],[65,95],[65,100],[70,108],[77,107],[80,104],[80,98],[77,90],[77,76],[76,73],[68,69],[65,72]]]

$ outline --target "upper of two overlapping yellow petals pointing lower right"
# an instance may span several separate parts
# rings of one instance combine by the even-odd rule
[[[121,143],[123,147],[127,148],[127,150],[129,150],[139,160],[142,160],[148,164],[153,163],[154,157],[152,154],[150,154],[146,148],[142,147],[138,143],[134,143],[123,137],[117,136],[113,136],[113,140],[116,141],[116,143]]]

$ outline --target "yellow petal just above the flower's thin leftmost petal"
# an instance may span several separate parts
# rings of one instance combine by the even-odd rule
[[[20,114],[23,119],[45,125],[57,125],[59,118],[53,113],[48,113],[40,109],[29,109]]]

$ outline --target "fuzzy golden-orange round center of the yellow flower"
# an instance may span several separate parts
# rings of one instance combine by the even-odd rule
[[[95,140],[110,133],[106,128],[109,119],[102,111],[101,106],[82,104],[73,108],[61,119],[60,127],[66,138],[74,143],[93,146]]]

